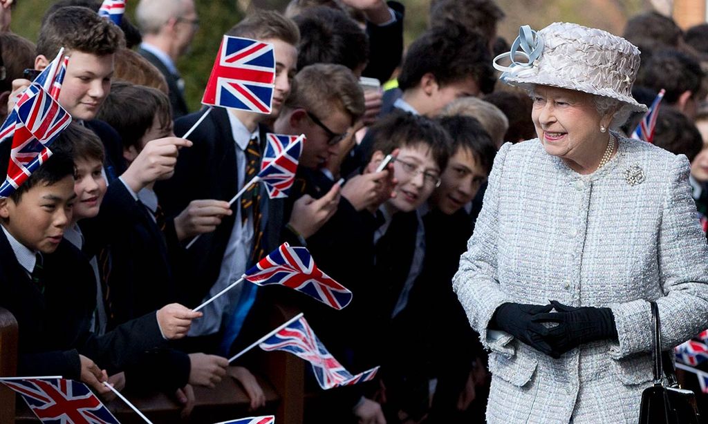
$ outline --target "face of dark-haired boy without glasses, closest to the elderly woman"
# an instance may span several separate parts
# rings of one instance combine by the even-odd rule
[[[450,157],[440,177],[440,187],[435,189],[430,203],[442,213],[452,215],[468,204],[487,179],[486,170],[467,148],[458,148]]]

